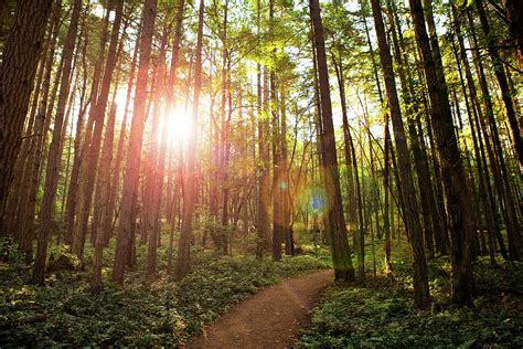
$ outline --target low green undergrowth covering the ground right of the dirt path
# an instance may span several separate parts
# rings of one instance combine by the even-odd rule
[[[449,303],[450,264],[428,264],[433,303],[415,307],[409,262],[393,261],[394,278],[385,273],[364,284],[332,287],[301,331],[306,348],[522,348],[523,264],[485,258],[474,262],[473,307]]]

